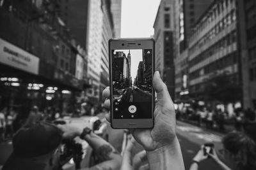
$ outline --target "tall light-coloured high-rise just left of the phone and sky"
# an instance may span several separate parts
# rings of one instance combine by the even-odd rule
[[[111,1],[89,1],[88,14],[88,76],[92,88],[88,89],[90,101],[99,101],[100,91],[108,85],[108,39],[113,37]]]

